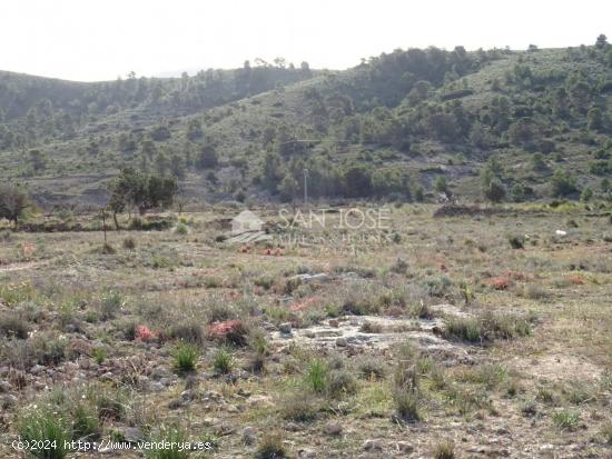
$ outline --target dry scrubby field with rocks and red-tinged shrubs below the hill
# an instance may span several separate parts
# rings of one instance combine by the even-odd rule
[[[382,239],[249,247],[220,237],[223,207],[106,242],[99,216],[7,223],[2,456],[40,438],[213,447],[154,458],[605,457],[609,211],[435,210],[393,206]]]

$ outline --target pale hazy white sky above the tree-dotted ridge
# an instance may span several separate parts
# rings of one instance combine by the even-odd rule
[[[395,48],[612,41],[612,1],[1,0],[0,69],[72,80],[235,68],[344,69]]]

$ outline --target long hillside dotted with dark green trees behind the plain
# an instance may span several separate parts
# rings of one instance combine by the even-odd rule
[[[612,51],[395,50],[102,83],[0,74],[0,166],[43,206],[105,201],[120,168],[186,199],[610,197]],[[584,191],[590,190],[590,191]]]

